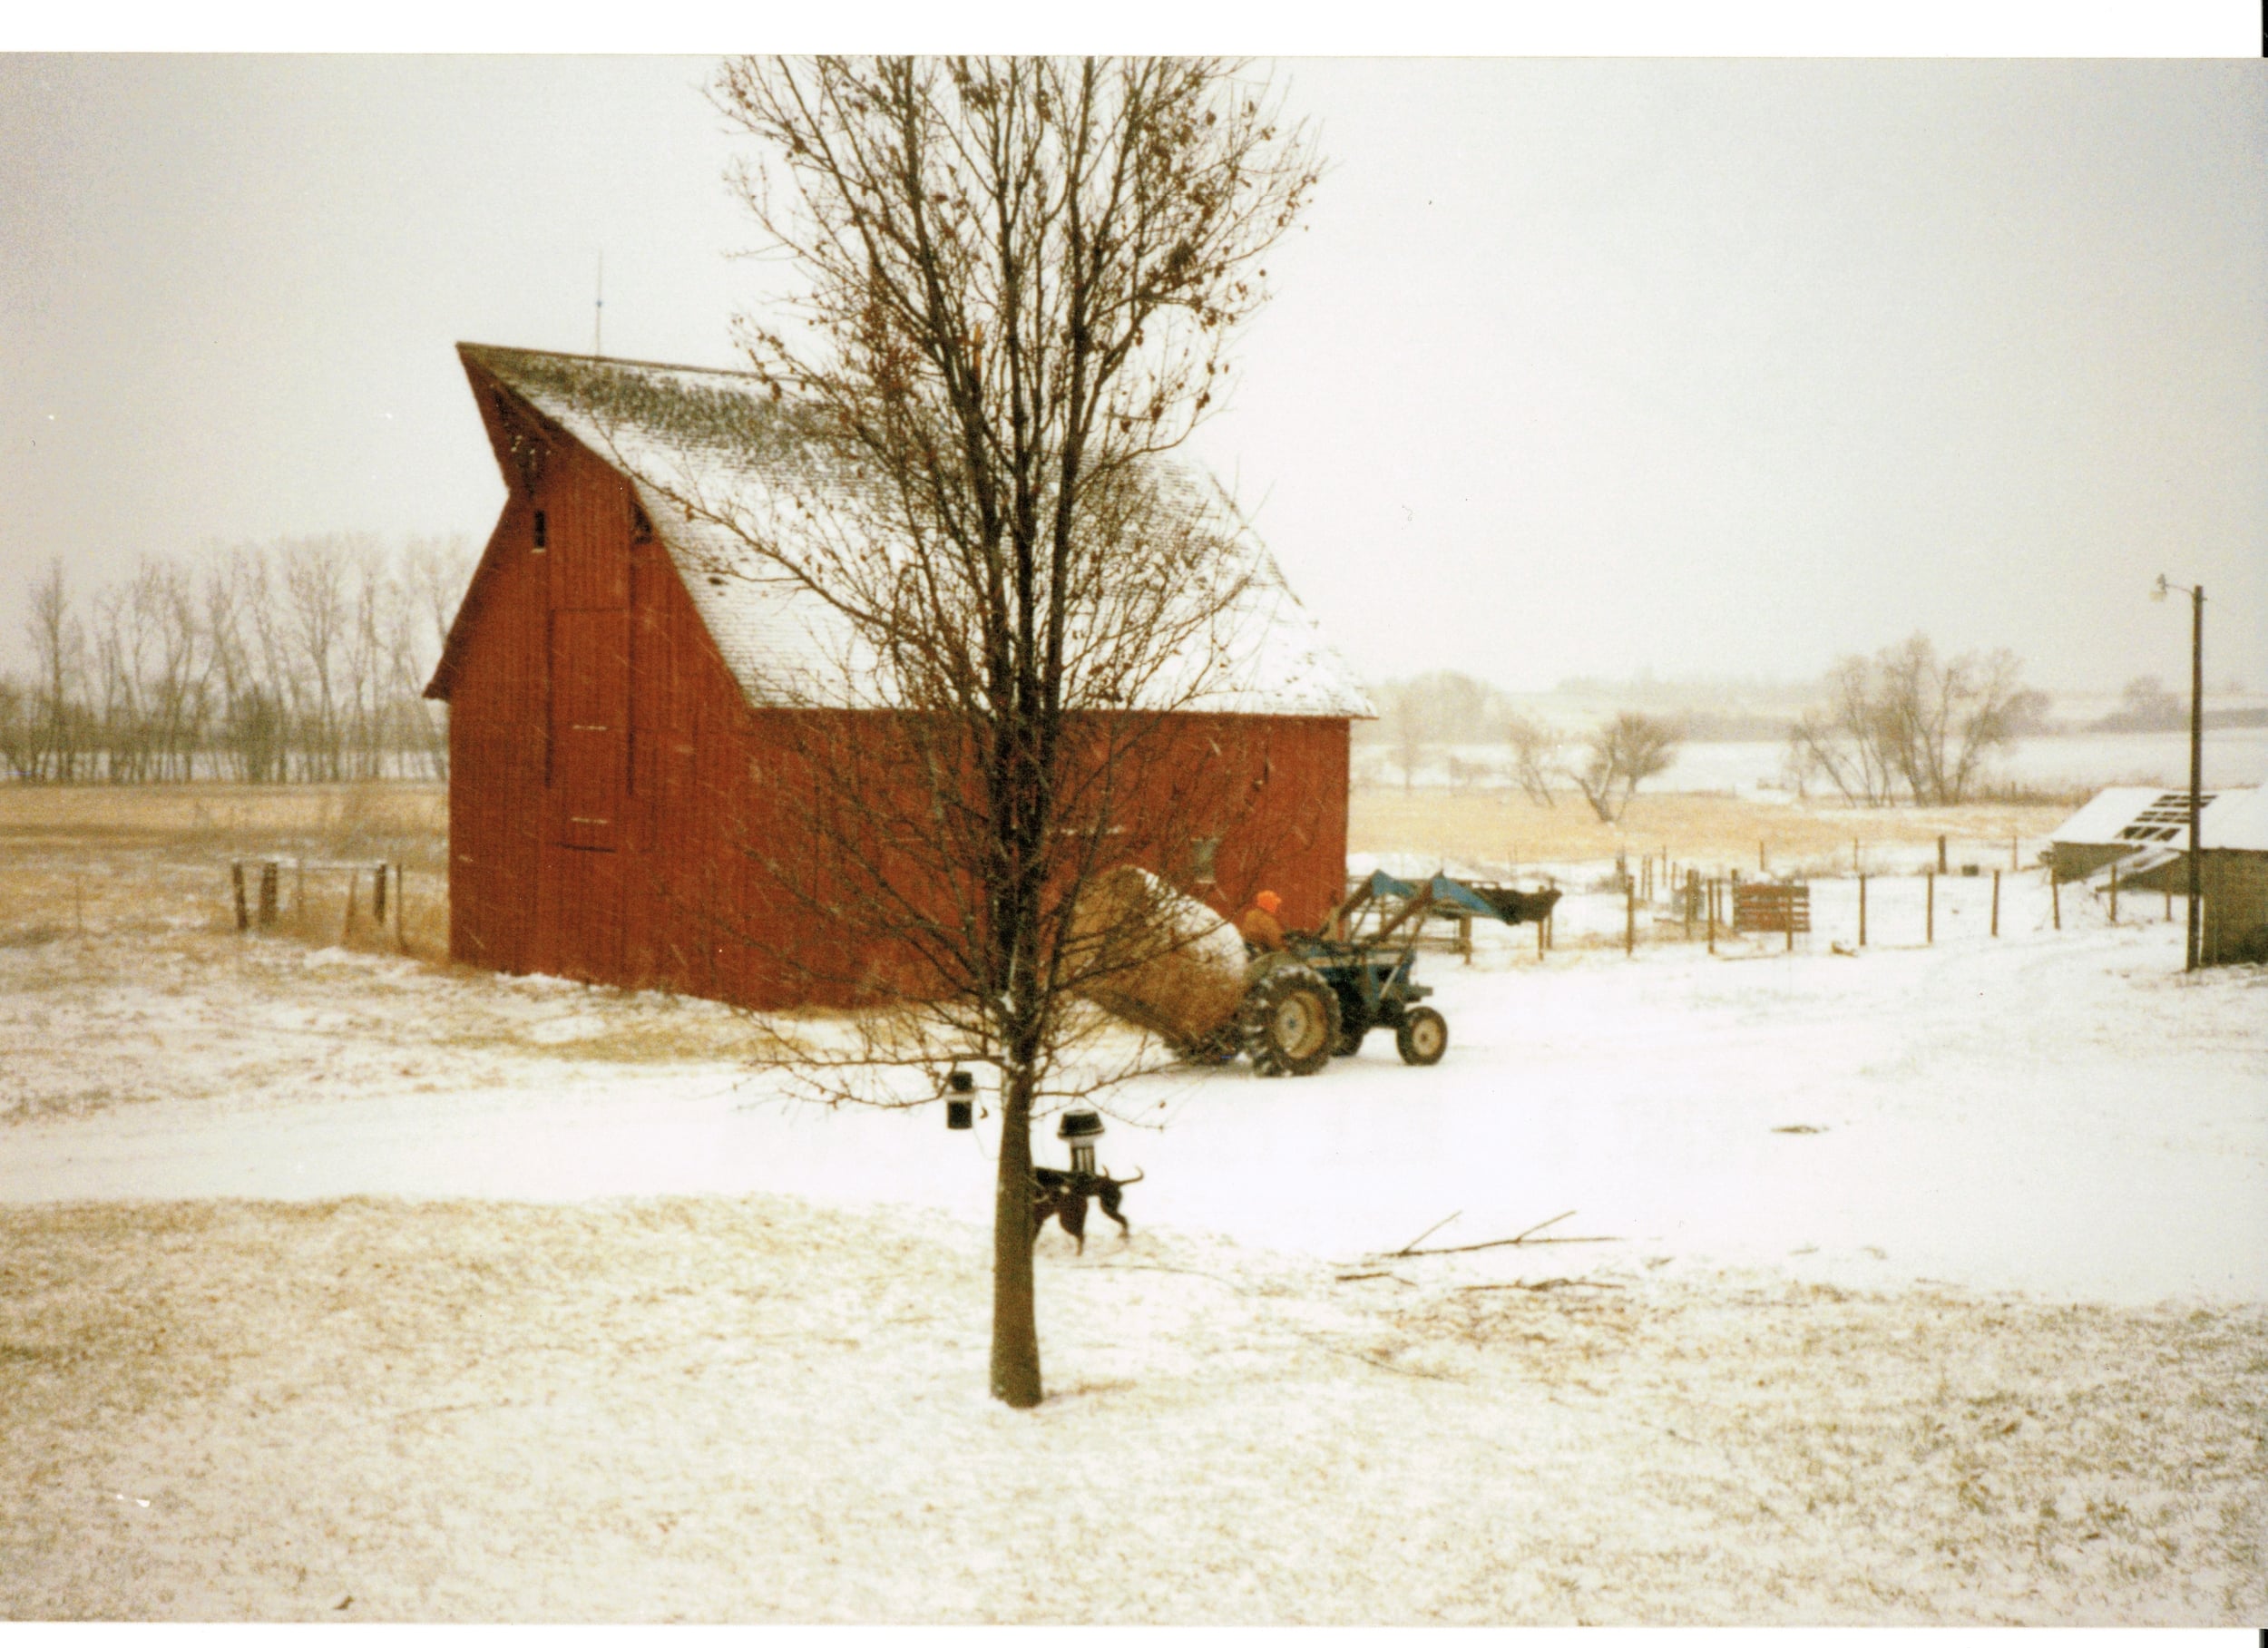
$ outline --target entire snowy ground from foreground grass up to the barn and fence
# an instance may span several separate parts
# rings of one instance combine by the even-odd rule
[[[2268,1609],[2268,975],[2161,900],[1427,954],[1436,1070],[1120,1095],[1134,1238],[1041,1238],[1009,1415],[984,1124],[111,875],[159,895],[0,943],[0,1616]]]

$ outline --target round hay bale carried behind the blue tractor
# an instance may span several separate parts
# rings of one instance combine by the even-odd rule
[[[1120,866],[1080,893],[1080,995],[1129,1025],[1193,1047],[1245,1000],[1245,941],[1168,882]]]

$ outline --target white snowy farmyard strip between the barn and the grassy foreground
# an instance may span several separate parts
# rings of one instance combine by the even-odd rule
[[[1907,1279],[2053,1299],[2268,1301],[2268,977],[2184,977],[2159,898],[2041,877],[1814,882],[1817,932],[1672,943],[1647,914],[1615,948],[1617,895],[1560,904],[1558,950],[1481,934],[1472,966],[1429,954],[1452,1052],[1433,1070],[1372,1034],[1306,1081],[1243,1065],[1136,1081],[1102,1161],[1141,1170],[1143,1224],[1331,1258],[1393,1249],[1458,1215],[1463,1240],[1576,1210],[1681,1263],[1783,1263],[1851,1283]],[[70,941],[57,941],[68,945]],[[7,1133],[0,1201],[86,1197],[789,1192],[982,1220],[996,1136],[932,1108],[828,1111],[744,1061],[606,1059],[621,1022],[671,1004],[411,961],[252,948],[195,979],[5,997],[18,1047],[61,1056],[11,1084],[82,1108]],[[184,963],[188,968],[191,963]],[[485,1040],[440,1036],[469,1016]],[[413,1029],[415,1022],[415,1029]],[[472,1031],[451,1031],[465,1040]],[[590,1043],[601,1056],[578,1061]],[[245,1045],[270,1054],[254,1068]],[[284,1052],[288,1056],[274,1056]],[[73,1104],[73,1084],[143,1104]],[[1803,1129],[1803,1131],[1789,1131]],[[1050,1142],[1046,1149],[1059,1149]]]

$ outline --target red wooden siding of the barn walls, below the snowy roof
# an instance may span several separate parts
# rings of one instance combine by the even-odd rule
[[[513,496],[435,678],[451,705],[451,954],[748,1006],[839,1004],[860,977],[903,977],[905,957],[846,954],[814,909],[839,870],[801,825],[796,778],[814,725],[857,750],[880,723],[751,710],[667,551],[635,533],[624,476],[558,431],[522,462],[479,369],[474,385]],[[1261,886],[1288,925],[1338,898],[1343,719],[1182,716],[1134,789],[1129,818],[1179,823],[1173,839],[1136,827],[1129,857],[1225,916]],[[1195,884],[1207,836],[1213,880]]]

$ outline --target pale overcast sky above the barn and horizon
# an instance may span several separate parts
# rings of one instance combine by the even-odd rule
[[[0,664],[50,555],[488,535],[456,340],[733,365],[703,59],[0,59]],[[1372,678],[1926,630],[2268,687],[2259,61],[1279,63],[1334,165],[1200,433]]]

